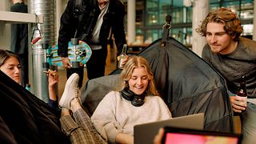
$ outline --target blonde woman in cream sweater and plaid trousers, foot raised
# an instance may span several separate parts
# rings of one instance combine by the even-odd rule
[[[59,102],[62,130],[72,143],[134,143],[135,125],[172,118],[145,58],[126,62],[120,86],[106,94],[91,118],[82,109],[78,79],[78,74],[70,76]]]

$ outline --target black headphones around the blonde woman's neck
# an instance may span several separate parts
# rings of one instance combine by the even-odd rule
[[[134,94],[132,90],[130,90],[128,87],[124,88],[121,91],[122,98],[125,98],[126,100],[130,101],[133,106],[142,106],[144,104],[145,100],[145,94]]]

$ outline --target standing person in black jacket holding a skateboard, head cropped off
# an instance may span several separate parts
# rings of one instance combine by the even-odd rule
[[[92,56],[86,63],[88,79],[102,77],[105,74],[107,38],[110,31],[114,34],[118,54],[126,43],[124,30],[125,6],[119,0],[70,0],[62,14],[58,37],[58,55],[62,57],[67,77],[79,74],[79,86],[82,86],[83,67],[72,68],[67,58],[70,38],[86,42],[92,49]]]

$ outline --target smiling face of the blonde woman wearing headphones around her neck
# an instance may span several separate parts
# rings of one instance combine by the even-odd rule
[[[128,81],[129,89],[138,95],[144,93],[146,87],[148,86],[148,83],[149,78],[147,76],[146,69],[143,67],[135,68],[133,74]]]

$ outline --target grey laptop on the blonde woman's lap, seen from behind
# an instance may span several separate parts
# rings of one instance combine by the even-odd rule
[[[204,114],[190,114],[164,121],[136,125],[134,126],[134,144],[153,143],[158,130],[165,126],[203,130]]]

